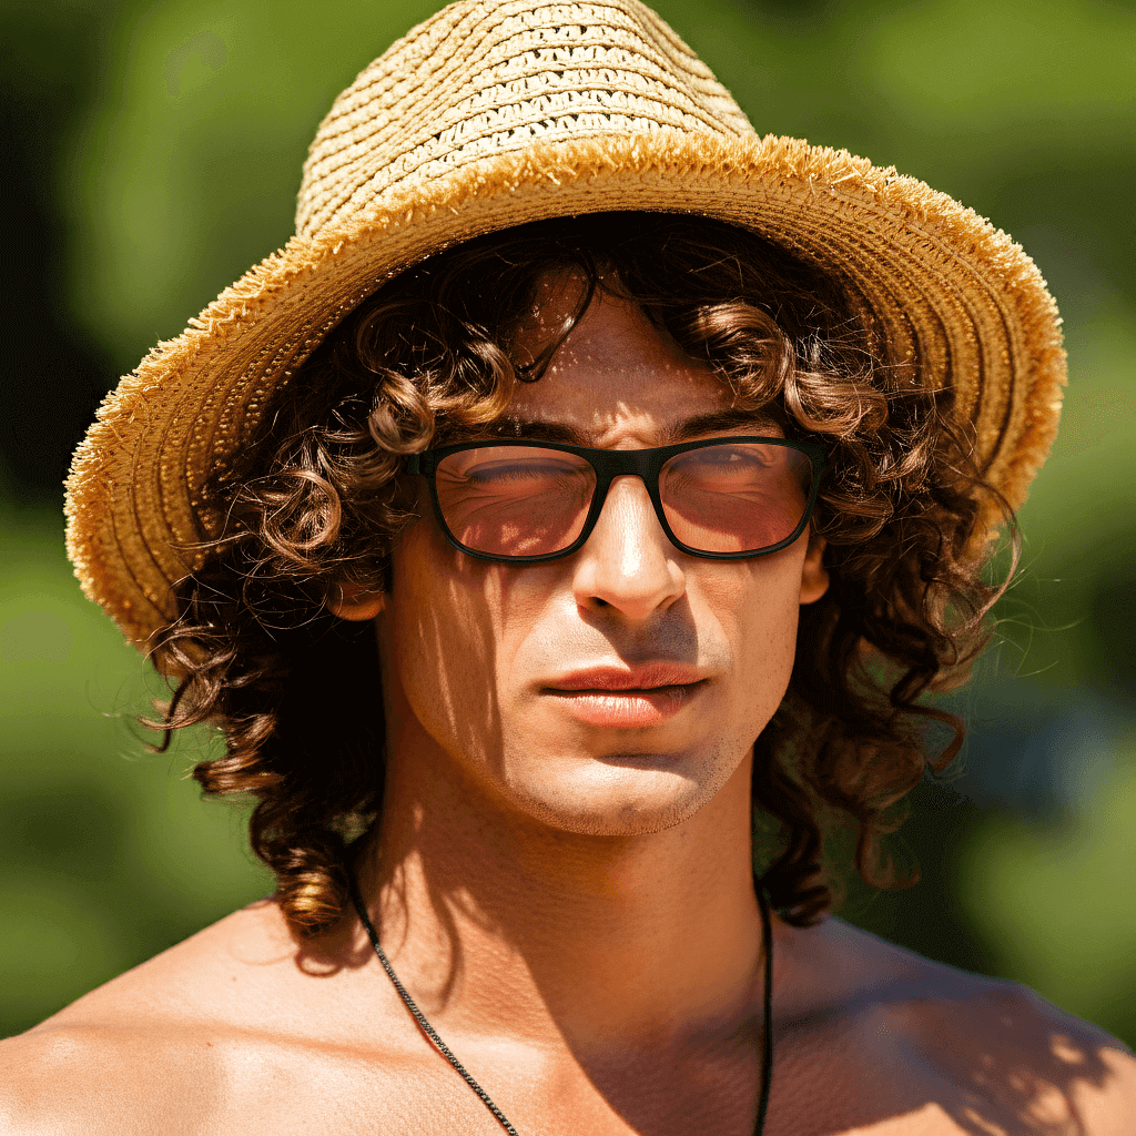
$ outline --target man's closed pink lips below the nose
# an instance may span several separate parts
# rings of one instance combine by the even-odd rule
[[[675,717],[705,686],[694,667],[651,662],[575,670],[552,679],[542,693],[586,725],[642,729]]]

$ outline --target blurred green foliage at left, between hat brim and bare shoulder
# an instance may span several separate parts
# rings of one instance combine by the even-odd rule
[[[77,595],[61,524],[6,511],[0,541],[2,1035],[272,885],[243,810],[185,779],[207,740],[147,752],[135,716],[161,684]]]

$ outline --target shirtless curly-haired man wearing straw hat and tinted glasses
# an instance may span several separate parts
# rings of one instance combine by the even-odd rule
[[[5,1043],[0,1130],[1130,1133],[1119,1043],[821,918],[1055,428],[1024,254],[633,0],[417,28],[299,229],[69,486],[278,891]]]

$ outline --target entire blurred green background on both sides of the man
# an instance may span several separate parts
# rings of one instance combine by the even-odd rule
[[[760,132],[894,164],[1022,242],[1066,318],[1061,436],[996,645],[916,793],[924,880],[847,913],[1136,1042],[1136,14],[1046,0],[663,0]],[[318,16],[317,16],[318,12]],[[239,807],[148,754],[160,693],[62,556],[103,392],[291,232],[337,91],[431,5],[0,5],[0,1035],[265,894]]]

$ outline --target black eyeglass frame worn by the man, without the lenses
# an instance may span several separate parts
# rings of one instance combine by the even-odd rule
[[[730,445],[733,443],[760,443],[762,445],[778,445],[786,450],[796,450],[803,453],[812,462],[812,485],[809,491],[809,502],[804,507],[804,512],[796,528],[783,541],[769,545],[767,549],[746,552],[707,552],[702,549],[692,549],[675,536],[670,524],[667,520],[667,512],[662,504],[662,495],[659,492],[659,475],[662,467],[676,454],[686,453],[691,450],[702,450],[711,445]],[[535,557],[509,557],[499,556],[494,552],[481,552],[477,549],[467,548],[450,532],[450,526],[442,515],[442,502],[437,496],[437,467],[442,460],[451,453],[460,453],[465,450],[486,450],[498,446],[524,446],[526,449],[558,450],[561,453],[574,453],[583,458],[595,470],[595,488],[592,491],[592,504],[584,527],[579,536],[567,548],[557,552],[545,552]],[[757,435],[743,434],[732,437],[700,438],[696,442],[678,442],[675,445],[660,445],[650,450],[593,450],[583,445],[569,445],[566,442],[540,442],[532,438],[483,438],[478,442],[458,442],[453,445],[441,445],[436,449],[424,450],[421,453],[412,453],[407,459],[408,474],[421,474],[428,485],[431,500],[434,502],[434,516],[442,528],[445,538],[460,552],[475,557],[478,560],[490,560],[495,563],[542,563],[548,560],[560,560],[570,557],[578,549],[583,548],[587,538],[595,528],[595,523],[603,511],[603,502],[608,499],[608,490],[612,481],[617,477],[638,477],[646,486],[648,495],[654,506],[655,516],[667,538],[680,552],[686,552],[692,557],[701,557],[705,560],[753,560],[757,557],[768,556],[770,552],[778,552],[787,548],[804,532],[805,526],[812,517],[817,498],[820,494],[820,481],[828,463],[828,452],[817,442],[805,442],[797,438],[785,437],[760,437]]]

